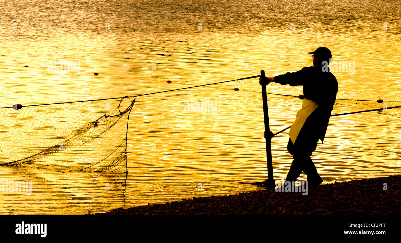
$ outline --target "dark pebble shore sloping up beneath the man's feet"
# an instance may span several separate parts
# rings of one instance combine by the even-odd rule
[[[392,175],[312,186],[307,195],[263,189],[86,215],[400,215],[400,185]]]

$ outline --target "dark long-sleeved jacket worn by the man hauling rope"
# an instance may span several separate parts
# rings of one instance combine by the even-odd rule
[[[307,129],[309,135],[316,135],[320,140],[324,139],[338,92],[336,77],[328,71],[322,70],[323,65],[304,67],[297,72],[274,77],[274,82],[291,86],[304,86],[304,98],[318,103],[316,108],[306,119],[302,130]]]

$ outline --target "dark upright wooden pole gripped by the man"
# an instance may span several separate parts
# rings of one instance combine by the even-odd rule
[[[260,71],[260,76],[265,77],[265,71]],[[269,125],[269,112],[267,110],[267,94],[266,86],[262,85],[262,100],[263,100],[263,117],[265,120],[265,132],[266,132],[266,156],[267,156],[267,176],[268,176],[268,187],[274,188],[275,181],[273,179],[273,162],[271,161],[271,133]]]

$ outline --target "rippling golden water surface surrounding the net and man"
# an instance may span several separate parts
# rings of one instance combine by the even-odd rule
[[[0,107],[146,94],[260,70],[275,76],[312,66],[308,52],[319,46],[330,48],[333,61],[354,62],[354,73],[333,72],[337,98],[401,100],[396,0],[1,4]],[[51,71],[54,60],[79,63],[79,72]],[[269,84],[267,92],[299,95],[302,87]],[[302,105],[289,96],[267,99],[274,132],[290,126]],[[383,104],[338,100],[332,114],[374,108]],[[312,157],[324,182],[399,174],[400,117],[389,109],[330,118]],[[0,214],[96,213],[259,190],[247,183],[267,178],[263,131],[257,78],[140,96],[130,114],[127,176],[0,167],[0,181],[32,181],[31,195],[1,193]],[[288,131],[272,140],[277,181],[292,162],[287,142]]]

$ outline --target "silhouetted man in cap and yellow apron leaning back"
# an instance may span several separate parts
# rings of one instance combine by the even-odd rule
[[[328,64],[331,52],[326,47],[319,47],[313,54],[313,66],[304,67],[297,72],[287,72],[273,78],[259,78],[261,85],[270,82],[304,86],[304,101],[290,129],[288,152],[294,158],[286,181],[296,181],[302,171],[308,176],[309,185],[323,182],[310,156],[316,150],[319,139],[323,143],[324,136],[333,110],[338,91],[336,77],[330,72]],[[265,135],[266,136],[266,135]]]

